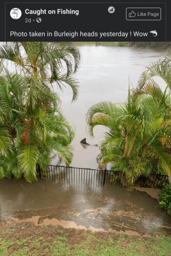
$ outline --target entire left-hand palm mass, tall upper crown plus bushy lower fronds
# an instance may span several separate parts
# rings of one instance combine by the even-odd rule
[[[0,58],[0,178],[23,175],[31,182],[37,180],[36,163],[45,169],[53,150],[71,163],[75,132],[50,84],[61,89],[63,83],[69,84],[76,100],[78,85],[71,75],[78,70],[80,54],[72,46],[20,42],[15,48],[0,47]],[[15,63],[16,73],[10,74],[3,60]],[[60,75],[63,60],[67,71]]]

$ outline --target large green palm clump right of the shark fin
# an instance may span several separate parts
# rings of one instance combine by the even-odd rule
[[[123,105],[103,101],[88,110],[91,136],[96,125],[107,127],[100,144],[100,167],[111,163],[111,170],[122,171],[129,185],[152,172],[165,173],[171,181],[171,129],[165,101],[165,96],[161,101],[153,96],[133,100],[129,90]]]

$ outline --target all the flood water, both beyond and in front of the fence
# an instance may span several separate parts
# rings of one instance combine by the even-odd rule
[[[70,103],[72,91],[67,86],[59,92],[62,108],[76,127],[72,142],[71,166],[97,169],[103,127],[94,129],[94,138],[86,133],[85,114],[102,100],[123,102],[127,99],[129,75],[135,87],[140,74],[151,62],[163,59],[166,52],[113,46],[80,46],[82,65],[75,75],[79,81],[78,100]],[[161,86],[165,84],[159,79]],[[57,91],[57,88],[54,88]],[[80,141],[87,138],[91,145]],[[52,158],[52,164],[63,164]],[[171,219],[160,209],[157,199],[126,187],[79,184],[57,180],[0,180],[0,217],[19,220],[36,217],[37,224],[61,224],[64,227],[84,227],[104,230],[132,231],[155,235],[171,235]]]

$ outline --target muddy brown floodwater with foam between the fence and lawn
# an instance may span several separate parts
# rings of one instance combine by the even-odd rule
[[[0,207],[1,218],[29,219],[36,225],[171,236],[171,219],[159,201],[126,187],[4,179],[0,181]]]

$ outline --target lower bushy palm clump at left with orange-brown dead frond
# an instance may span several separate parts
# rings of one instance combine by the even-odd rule
[[[34,110],[27,107],[28,79],[18,74],[0,81],[0,178],[24,175],[36,180],[36,163],[46,168],[55,150],[66,164],[72,160],[74,130],[60,111],[60,100],[50,90],[39,92]]]

